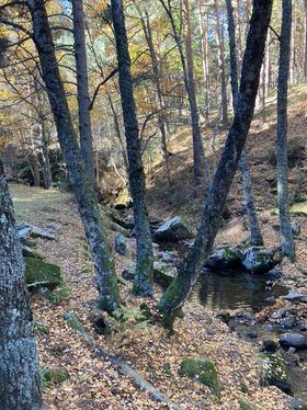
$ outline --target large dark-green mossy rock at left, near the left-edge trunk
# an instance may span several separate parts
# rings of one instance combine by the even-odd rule
[[[34,258],[24,258],[24,262],[27,287],[47,287],[53,291],[62,283],[58,265]]]

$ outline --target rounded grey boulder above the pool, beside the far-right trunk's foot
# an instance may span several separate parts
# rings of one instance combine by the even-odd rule
[[[265,272],[274,264],[274,251],[264,247],[250,247],[242,257],[243,266],[252,272]]]

